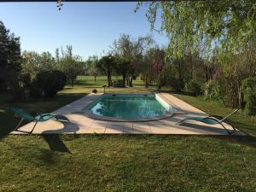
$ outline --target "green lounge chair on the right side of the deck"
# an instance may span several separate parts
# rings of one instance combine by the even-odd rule
[[[179,122],[177,122],[177,125],[178,124],[181,124],[183,123],[184,121],[186,120],[196,120],[196,121],[200,121],[202,123],[205,123],[207,125],[216,125],[216,124],[220,124],[222,125],[222,127],[224,128],[225,131],[227,131],[229,134],[232,134],[234,131],[236,131],[236,129],[232,127],[233,131],[229,131],[224,125],[223,125],[223,121],[224,119],[227,119],[228,117],[230,117],[232,114],[236,113],[239,109],[236,109],[235,111],[233,111],[232,113],[228,114],[227,116],[225,116],[223,119],[216,119],[212,116],[207,116],[207,117],[189,117],[187,119],[183,119]]]

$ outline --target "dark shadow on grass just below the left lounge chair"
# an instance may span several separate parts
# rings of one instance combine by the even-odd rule
[[[50,150],[71,154],[65,143],[62,142],[60,135],[42,135],[42,137],[48,143]]]

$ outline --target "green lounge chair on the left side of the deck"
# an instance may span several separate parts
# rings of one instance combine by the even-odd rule
[[[36,122],[32,128],[32,131],[35,129],[38,122],[43,122],[43,121],[49,120],[51,118],[55,118],[56,120],[61,121],[61,122],[69,121],[67,119],[67,117],[65,117],[64,115],[61,115],[61,114],[43,113],[43,114],[38,114],[38,116],[36,116],[36,117],[33,117],[31,114],[26,113],[26,111],[24,111],[23,109],[11,108],[11,110],[21,118],[19,124],[15,127],[15,131],[19,131],[19,128],[20,128],[19,126],[23,120]],[[32,133],[32,131],[30,131],[29,133]],[[26,132],[26,131],[21,131],[21,132]]]

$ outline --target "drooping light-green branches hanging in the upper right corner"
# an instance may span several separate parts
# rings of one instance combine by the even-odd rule
[[[137,9],[143,3],[137,4]],[[160,12],[160,31],[166,32],[170,41],[168,55],[180,58],[188,49],[204,44],[205,53],[211,54],[211,44],[218,44],[232,52],[255,38],[256,3],[251,0],[237,1],[163,1],[144,3],[148,6],[147,17],[154,29]],[[201,44],[202,45],[202,44]]]

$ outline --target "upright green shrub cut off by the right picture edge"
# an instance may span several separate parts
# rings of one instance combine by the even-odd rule
[[[242,90],[248,115],[256,115],[256,77],[242,81]]]

